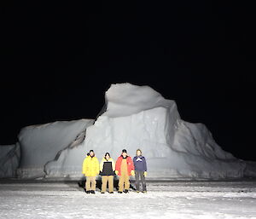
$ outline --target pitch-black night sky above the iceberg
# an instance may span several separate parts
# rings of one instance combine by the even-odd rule
[[[91,3],[84,3],[91,2]],[[1,137],[96,118],[110,84],[149,85],[256,160],[253,7],[234,1],[84,1],[1,9]]]

